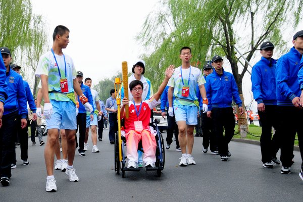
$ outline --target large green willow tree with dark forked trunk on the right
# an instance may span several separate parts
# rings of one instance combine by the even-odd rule
[[[158,86],[169,64],[180,65],[182,46],[192,49],[192,61],[204,65],[213,55],[229,61],[244,105],[242,79],[248,63],[240,62],[236,48],[249,62],[265,40],[285,49],[285,30],[293,30],[301,19],[303,0],[162,0],[151,12],[137,40],[146,47],[145,75]],[[291,12],[289,12],[291,11]],[[238,67],[243,64],[243,67]],[[145,76],[144,75],[144,76]],[[239,125],[246,125],[239,116]]]

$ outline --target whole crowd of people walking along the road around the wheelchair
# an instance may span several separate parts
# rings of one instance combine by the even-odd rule
[[[139,60],[132,67],[129,88],[125,89],[129,97],[124,97],[122,86],[119,92],[112,89],[104,104],[98,92],[91,89],[92,79],[84,79],[83,73],[75,70],[72,58],[63,53],[62,49],[69,43],[69,34],[67,27],[57,26],[51,50],[40,57],[35,72],[40,78],[36,99],[28,83],[19,75],[21,67],[11,64],[10,49],[0,48],[0,183],[3,186],[10,184],[11,169],[16,168],[16,143],[20,143],[23,165],[30,164],[28,126],[31,127],[32,145],[36,143],[36,131],[39,145],[44,145],[42,117],[47,130],[44,148],[46,191],[57,191],[54,169],[65,172],[71,182],[79,181],[73,167],[76,148],[79,156],[86,156],[91,130],[91,152],[99,153],[97,140],[103,141],[107,118],[109,141],[114,144],[118,131],[118,107],[121,107],[120,117],[125,119],[125,106],[129,106],[129,118],[124,120],[128,168],[156,166],[155,132],[149,127],[149,121],[151,110],[160,103],[162,116],[168,118],[165,147],[170,149],[175,135],[176,150],[181,152],[179,166],[196,164],[192,154],[195,126],[197,136],[203,136],[203,153],[208,153],[210,147],[211,154],[220,155],[222,162],[229,160],[228,144],[235,127],[232,103],[238,106],[239,114],[244,113],[244,108],[234,76],[224,70],[221,56],[215,55],[211,63],[204,65],[202,72],[191,66],[190,47],[182,47],[179,55],[181,65],[177,68],[170,65],[166,69],[156,93],[150,80],[143,76],[145,62]],[[295,33],[292,42],[289,53],[279,60],[272,59],[274,45],[270,41],[262,43],[261,60],[251,73],[252,92],[262,123],[261,161],[265,168],[282,164],[283,174],[290,173],[296,133],[303,160],[302,129],[299,126],[303,119],[303,30]],[[122,106],[117,103],[117,93],[121,93]],[[42,99],[44,106],[41,105]],[[279,123],[275,121],[277,116],[289,119]],[[272,127],[275,128],[273,137]],[[142,141],[144,154],[138,149],[139,141]],[[281,162],[277,158],[279,149]],[[303,180],[303,163],[301,166],[299,176]]]

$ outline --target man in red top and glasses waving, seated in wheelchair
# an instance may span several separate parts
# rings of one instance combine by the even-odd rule
[[[174,65],[170,65],[165,71],[165,78],[158,91],[148,100],[142,100],[143,83],[139,80],[130,82],[129,89],[134,98],[132,102],[124,97],[120,111],[121,119],[125,117],[125,106],[129,106],[129,118],[125,119],[127,168],[137,168],[138,143],[141,140],[144,151],[143,163],[145,168],[155,168],[156,162],[156,138],[149,129],[150,111],[160,104],[160,97],[170,77],[174,72]]]

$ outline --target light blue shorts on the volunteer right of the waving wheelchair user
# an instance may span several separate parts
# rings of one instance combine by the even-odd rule
[[[176,105],[174,106],[176,122],[186,121],[187,125],[197,125],[198,108],[196,106]]]

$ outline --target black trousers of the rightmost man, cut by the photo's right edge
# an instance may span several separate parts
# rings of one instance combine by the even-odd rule
[[[298,135],[300,155],[303,162],[303,110],[293,106],[278,106],[279,124],[281,127],[281,163],[282,166],[290,167],[293,158],[293,144],[295,134]],[[301,164],[303,169],[303,163]]]

